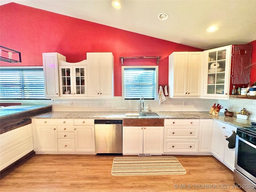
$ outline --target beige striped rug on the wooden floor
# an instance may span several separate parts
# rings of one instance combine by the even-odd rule
[[[115,157],[113,176],[186,174],[174,156],[122,156]]]

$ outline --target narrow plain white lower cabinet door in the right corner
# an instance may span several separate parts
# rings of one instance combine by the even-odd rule
[[[212,152],[212,119],[201,119],[200,120],[200,131],[199,131],[199,149],[198,152]]]

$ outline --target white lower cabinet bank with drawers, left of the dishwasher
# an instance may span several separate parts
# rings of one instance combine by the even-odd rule
[[[95,154],[94,119],[32,119],[34,150],[42,154]]]

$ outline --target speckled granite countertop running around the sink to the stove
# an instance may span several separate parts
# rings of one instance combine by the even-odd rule
[[[213,116],[209,112],[156,112],[159,117],[138,117],[138,116],[126,116],[125,111],[113,111],[113,112],[104,112],[104,111],[52,111],[32,118],[69,118],[69,119],[131,119],[131,118],[164,118],[164,119],[216,119],[221,122],[230,124],[235,127],[245,127],[252,126],[252,120],[243,120],[236,118],[236,115],[233,117],[226,117],[224,113],[219,113],[219,116]]]

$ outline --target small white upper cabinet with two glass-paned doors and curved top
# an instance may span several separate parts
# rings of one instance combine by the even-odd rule
[[[59,62],[60,96],[87,96],[86,60],[77,63]]]

